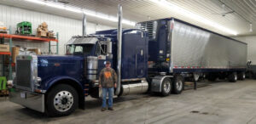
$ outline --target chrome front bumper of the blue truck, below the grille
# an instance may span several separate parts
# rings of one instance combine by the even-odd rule
[[[44,94],[15,89],[9,94],[9,100],[32,110],[44,112]]]

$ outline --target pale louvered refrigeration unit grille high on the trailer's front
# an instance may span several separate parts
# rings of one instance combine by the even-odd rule
[[[156,29],[157,29],[157,21],[145,21],[137,23],[137,28],[148,31],[149,39],[155,39],[156,37]]]

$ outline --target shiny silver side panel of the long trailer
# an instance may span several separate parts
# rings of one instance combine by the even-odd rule
[[[247,44],[175,21],[172,63],[183,68],[240,68],[247,63]]]

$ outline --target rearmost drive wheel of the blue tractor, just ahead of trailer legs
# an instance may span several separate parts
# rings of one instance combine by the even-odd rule
[[[183,76],[180,76],[180,75],[174,76],[174,79],[172,82],[172,93],[180,94],[183,92],[183,89],[184,89]]]

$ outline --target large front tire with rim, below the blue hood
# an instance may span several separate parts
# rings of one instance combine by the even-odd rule
[[[68,116],[79,106],[77,91],[67,84],[58,84],[53,87],[46,98],[48,116]]]

